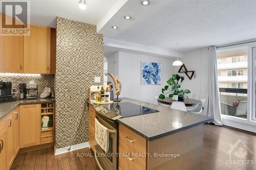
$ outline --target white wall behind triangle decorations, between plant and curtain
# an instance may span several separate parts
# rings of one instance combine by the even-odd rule
[[[182,82],[182,89],[188,89],[191,91],[188,94],[188,98],[192,99],[206,99],[204,103],[204,112],[206,115],[207,102],[208,102],[208,67],[209,67],[209,53],[208,48],[197,50],[193,52],[184,53],[184,58],[181,59],[185,64],[187,70],[195,71],[194,77],[189,80],[184,73],[178,73],[185,77]],[[180,67],[176,69],[178,72]],[[189,73],[190,75],[190,73]]]

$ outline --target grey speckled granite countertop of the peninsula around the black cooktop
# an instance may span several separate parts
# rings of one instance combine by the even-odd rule
[[[204,115],[184,112],[129,98],[121,99],[121,102],[130,102],[159,110],[159,112],[155,113],[119,118],[117,120],[119,124],[131,129],[147,140],[155,140],[212,120],[211,117]]]

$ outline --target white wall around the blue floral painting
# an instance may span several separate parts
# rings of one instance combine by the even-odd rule
[[[140,55],[134,53],[118,52],[118,71],[116,71],[116,63],[113,62],[114,55],[108,58],[109,72],[111,69],[117,72],[119,80],[122,84],[120,97],[140,100],[148,103],[156,103],[155,96],[161,93],[161,89],[166,85],[167,79],[175,74],[175,67],[172,65],[172,59],[155,57],[149,55]],[[117,61],[117,60],[116,60]],[[163,65],[163,81],[162,85],[141,85],[141,61],[152,61],[162,63]],[[111,66],[115,67],[114,69]]]

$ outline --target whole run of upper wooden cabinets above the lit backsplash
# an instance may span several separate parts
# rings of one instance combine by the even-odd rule
[[[0,36],[0,72],[55,74],[56,29],[29,26],[28,36]]]

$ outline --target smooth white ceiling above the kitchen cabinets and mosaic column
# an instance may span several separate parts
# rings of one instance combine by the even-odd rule
[[[87,0],[87,9],[78,7],[79,0],[32,0],[31,23],[56,27],[56,16],[97,25],[117,0]]]

